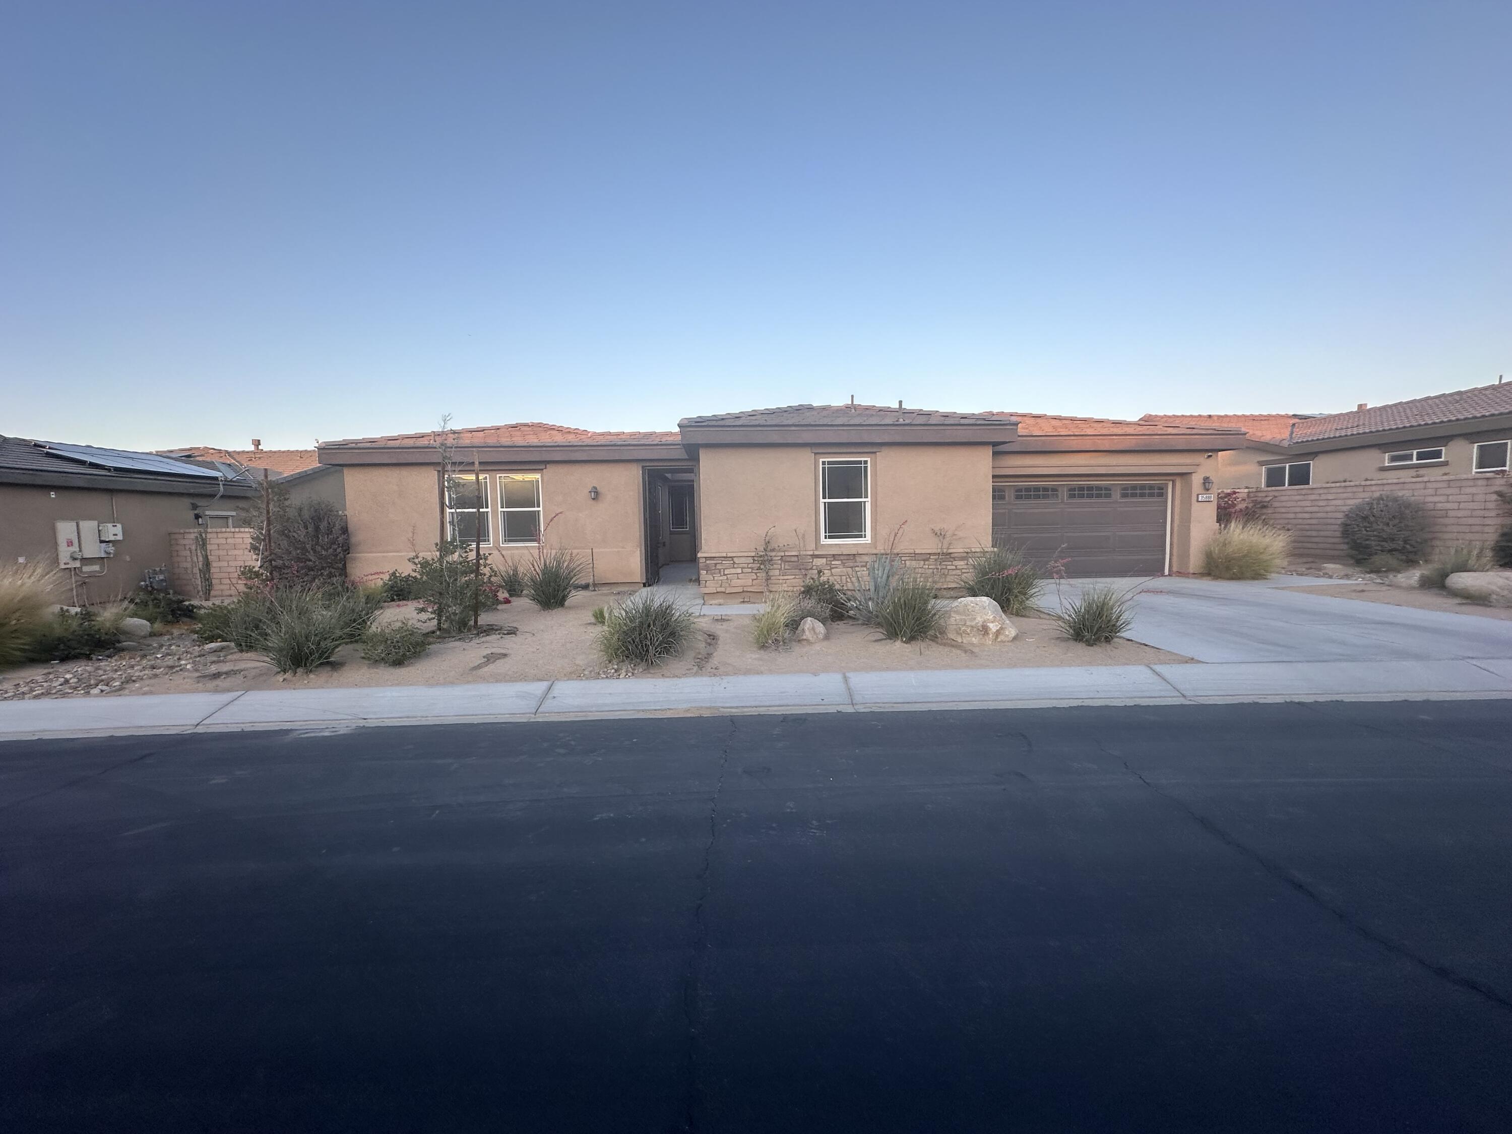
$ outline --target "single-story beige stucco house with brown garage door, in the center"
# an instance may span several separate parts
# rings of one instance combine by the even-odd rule
[[[544,543],[597,584],[664,569],[706,594],[848,582],[895,550],[959,575],[993,540],[1074,576],[1190,572],[1216,529],[1217,455],[1237,429],[878,405],[685,417],[676,432],[540,422],[327,442],[345,470],[354,578],[405,570],[442,532],[496,561]],[[475,466],[476,463],[476,466]],[[476,473],[473,469],[476,467]]]

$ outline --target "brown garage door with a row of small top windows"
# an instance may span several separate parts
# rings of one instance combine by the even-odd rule
[[[1161,575],[1166,570],[1166,496],[1161,482],[992,485],[992,538],[1021,547],[1045,565],[1066,561],[1066,575]]]

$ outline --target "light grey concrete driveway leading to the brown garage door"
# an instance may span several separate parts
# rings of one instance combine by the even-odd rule
[[[1263,582],[1152,579],[1142,585],[1129,579],[1077,579],[1061,584],[1061,596],[1069,599],[1099,582],[1136,587],[1129,638],[1196,661],[1512,658],[1512,621],[1285,590],[1334,579],[1281,575]],[[1052,606],[1055,591],[1046,597]]]

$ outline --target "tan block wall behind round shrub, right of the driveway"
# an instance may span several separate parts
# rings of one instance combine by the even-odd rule
[[[1296,562],[1349,562],[1338,525],[1355,503],[1380,493],[1420,500],[1427,510],[1433,547],[1456,543],[1491,543],[1507,523],[1497,488],[1512,487],[1504,476],[1435,476],[1420,481],[1355,481],[1309,484],[1303,488],[1252,488],[1250,497],[1269,499],[1266,520],[1291,532]]]

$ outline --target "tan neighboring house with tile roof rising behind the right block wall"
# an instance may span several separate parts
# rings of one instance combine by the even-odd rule
[[[1225,488],[1506,473],[1512,457],[1512,383],[1361,405],[1349,413],[1146,414],[1140,420],[1229,422],[1243,428],[1252,445],[1223,463]],[[1284,431],[1281,422],[1288,422]]]

